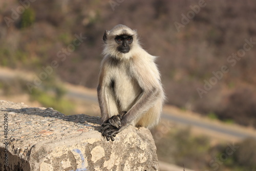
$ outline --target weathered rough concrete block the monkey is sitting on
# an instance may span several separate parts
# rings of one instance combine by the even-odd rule
[[[0,170],[158,170],[154,140],[143,127],[129,126],[108,142],[98,132],[99,117],[3,100],[0,116]]]

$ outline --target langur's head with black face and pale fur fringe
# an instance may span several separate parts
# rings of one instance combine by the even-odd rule
[[[105,30],[103,41],[103,54],[119,59],[130,58],[136,45],[139,45],[136,30],[124,25],[117,25],[110,31]]]

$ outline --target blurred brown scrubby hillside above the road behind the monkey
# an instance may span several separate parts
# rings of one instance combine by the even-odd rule
[[[22,2],[0,1],[0,66],[96,88],[104,30],[124,24],[159,56],[167,103],[256,126],[255,1]]]

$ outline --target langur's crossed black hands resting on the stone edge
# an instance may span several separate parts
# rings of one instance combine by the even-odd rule
[[[101,125],[101,135],[106,137],[106,140],[112,140],[114,141],[114,137],[116,136],[117,133],[119,133],[121,129],[121,119],[122,117],[126,114],[126,111],[123,111],[119,115],[112,116],[108,120],[106,120],[102,125]]]

